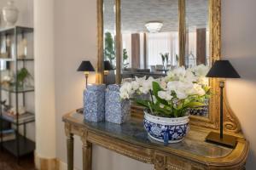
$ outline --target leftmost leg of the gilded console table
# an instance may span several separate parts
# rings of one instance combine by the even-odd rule
[[[67,135],[67,170],[73,170],[73,133]]]

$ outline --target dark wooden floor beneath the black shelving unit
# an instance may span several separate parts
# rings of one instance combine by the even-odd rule
[[[35,170],[33,156],[24,156],[20,158],[18,165],[15,156],[10,155],[7,151],[0,150],[0,170]]]

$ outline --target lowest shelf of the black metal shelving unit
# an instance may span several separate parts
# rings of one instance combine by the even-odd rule
[[[32,140],[26,139],[24,136],[21,136],[20,134],[18,138],[19,138],[19,148],[20,148],[19,156],[25,156],[27,154],[32,153],[35,150],[35,143]],[[16,139],[3,142],[3,148],[5,150],[8,150],[14,156],[18,156]]]

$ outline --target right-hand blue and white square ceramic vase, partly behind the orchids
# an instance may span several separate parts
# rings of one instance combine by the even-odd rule
[[[105,120],[121,124],[131,117],[131,105],[129,99],[120,99],[119,85],[108,85],[105,94]]]

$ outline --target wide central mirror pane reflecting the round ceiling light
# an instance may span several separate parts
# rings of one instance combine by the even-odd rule
[[[177,66],[178,0],[122,0],[122,81]]]

